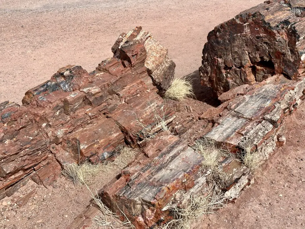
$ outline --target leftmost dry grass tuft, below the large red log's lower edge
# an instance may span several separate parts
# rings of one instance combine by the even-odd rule
[[[101,171],[99,164],[93,165],[89,162],[84,162],[79,165],[76,163],[68,163],[64,165],[63,175],[70,179],[74,185],[85,184],[90,182],[93,176]]]

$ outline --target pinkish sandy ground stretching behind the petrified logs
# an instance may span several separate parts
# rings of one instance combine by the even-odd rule
[[[176,75],[198,69],[217,24],[263,0],[1,0],[0,101],[24,93],[67,64],[92,71],[122,32],[142,25],[169,50]]]

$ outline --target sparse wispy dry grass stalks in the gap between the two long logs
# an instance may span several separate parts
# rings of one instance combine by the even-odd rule
[[[152,107],[152,105],[150,106]],[[139,118],[133,120],[142,129],[136,136],[143,139],[143,141],[150,141],[157,135],[160,129],[163,131],[169,130],[165,121],[165,111],[163,108],[164,106],[160,106],[159,112],[157,112],[156,108],[152,107],[154,125],[145,125]]]

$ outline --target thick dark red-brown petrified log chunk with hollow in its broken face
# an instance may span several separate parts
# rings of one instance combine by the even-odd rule
[[[207,37],[202,84],[216,96],[274,74],[295,79],[305,58],[303,1],[266,1],[224,22]]]

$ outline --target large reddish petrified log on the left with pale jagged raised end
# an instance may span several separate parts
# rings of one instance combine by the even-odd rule
[[[29,177],[48,186],[67,162],[101,162],[125,142],[136,146],[143,129],[135,125],[136,119],[156,131],[161,127],[156,126],[154,113],[161,112],[167,123],[173,120],[171,102],[158,95],[151,78],[155,74],[160,85],[162,77],[171,83],[167,73],[174,72],[174,64],[167,64],[167,49],[141,28],[128,34],[128,42],[116,42],[114,56],[95,71],[63,67],[27,91],[22,106],[0,104],[0,197]],[[163,69],[163,75],[156,69]]]

